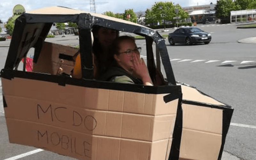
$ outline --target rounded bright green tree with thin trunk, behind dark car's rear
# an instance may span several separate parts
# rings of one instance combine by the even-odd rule
[[[156,2],[152,7],[152,12],[156,16],[156,20],[162,24],[162,20],[164,20],[164,29],[165,29],[165,21],[173,20],[175,17],[175,7],[172,2]]]

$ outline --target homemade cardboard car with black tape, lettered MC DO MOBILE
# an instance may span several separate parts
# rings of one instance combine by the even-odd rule
[[[55,22],[78,25],[82,78],[58,74],[60,65],[71,74],[78,49],[45,42]],[[161,62],[166,85],[93,79],[95,25],[144,36],[150,76],[161,71]],[[27,71],[24,60],[19,70],[30,48],[33,69]],[[0,76],[10,143],[83,160],[221,159],[233,108],[176,82],[165,40],[156,30],[65,7],[30,11],[15,21]]]

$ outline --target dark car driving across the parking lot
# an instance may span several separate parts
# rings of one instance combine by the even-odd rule
[[[204,32],[197,27],[178,28],[168,35],[168,41],[171,45],[175,43],[183,43],[186,45],[194,43],[209,44],[211,40],[212,36],[210,33]]]

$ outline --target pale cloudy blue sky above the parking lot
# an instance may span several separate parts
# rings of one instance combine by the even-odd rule
[[[159,1],[161,0],[95,0],[95,6],[96,13],[106,11],[124,13],[126,9],[139,12],[150,9],[155,2]],[[197,3],[198,5],[210,4],[211,2],[216,4],[217,0],[172,0],[172,2],[180,4],[181,7],[189,7],[197,5]],[[90,12],[90,0],[1,0],[0,20],[6,22],[9,17],[12,17],[12,10],[16,4],[21,4],[26,11],[50,6],[64,6]]]

